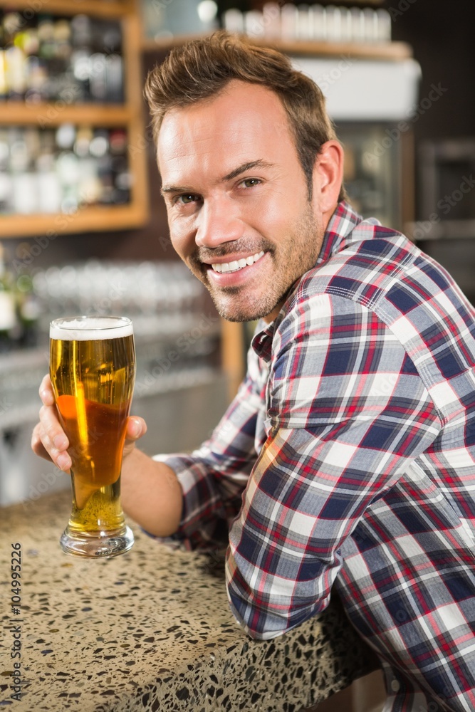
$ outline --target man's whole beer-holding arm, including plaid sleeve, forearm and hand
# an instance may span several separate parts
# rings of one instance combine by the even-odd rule
[[[266,379],[266,368],[250,351],[248,374],[238,394],[210,438],[192,454],[150,458],[135,449],[145,434],[145,421],[130,417],[122,461],[124,511],[151,534],[177,533],[193,548],[227,543],[229,524],[241,508],[256,461],[256,440],[264,439],[256,429]],[[33,451],[68,471],[68,440],[58,422],[48,376],[41,383],[40,397],[43,407],[33,430]]]

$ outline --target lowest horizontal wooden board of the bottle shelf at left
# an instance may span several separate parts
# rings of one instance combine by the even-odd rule
[[[0,234],[8,237],[46,235],[50,241],[61,234],[103,232],[140,227],[147,219],[142,204],[85,206],[63,214],[0,215]]]

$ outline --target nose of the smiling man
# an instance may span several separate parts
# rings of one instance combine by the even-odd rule
[[[222,197],[204,201],[197,222],[197,246],[218,247],[239,240],[243,234],[243,221],[231,200]]]

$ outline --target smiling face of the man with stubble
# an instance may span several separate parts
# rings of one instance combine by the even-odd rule
[[[275,318],[324,231],[278,97],[235,80],[171,110],[157,157],[172,244],[219,314]]]

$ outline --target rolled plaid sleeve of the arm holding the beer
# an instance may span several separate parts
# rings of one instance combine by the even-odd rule
[[[189,455],[155,456],[174,470],[182,486],[182,519],[174,538],[188,548],[228,544],[231,521],[258,456],[256,431],[267,378],[266,365],[249,350],[246,378],[210,438]]]

